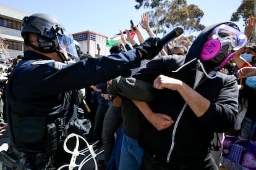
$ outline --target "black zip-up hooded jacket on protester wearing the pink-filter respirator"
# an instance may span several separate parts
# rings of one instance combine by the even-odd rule
[[[205,28],[193,42],[186,56],[170,55],[152,60],[148,62],[147,68],[134,75],[134,78],[153,83],[153,80],[162,74],[181,79],[193,87],[197,60],[203,44],[207,41],[210,31],[220,24]],[[129,91],[137,96],[143,96],[149,92],[147,89],[145,91],[138,89],[135,87]],[[203,77],[195,87],[195,91],[210,100],[210,107],[199,118],[182,99],[179,92],[170,89],[154,90],[154,98],[149,103],[151,110],[171,116],[174,124],[158,131],[146,120],[139,139],[140,146],[146,152],[166,163],[202,164],[209,153],[208,146],[213,139],[213,132],[225,132],[234,127],[234,115],[237,113],[238,106],[235,76],[218,72],[218,76],[214,79]]]

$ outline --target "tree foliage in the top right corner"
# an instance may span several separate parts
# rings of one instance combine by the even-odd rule
[[[238,22],[241,18],[247,20],[254,16],[254,0],[243,0],[236,12],[233,12],[231,21]]]

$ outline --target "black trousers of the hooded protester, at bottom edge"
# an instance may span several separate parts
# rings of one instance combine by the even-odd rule
[[[186,153],[184,153],[186,154]],[[182,159],[182,158],[181,158]],[[210,153],[207,158],[202,163],[195,164],[171,164],[153,158],[153,156],[148,155],[144,152],[142,156],[142,165],[140,170],[218,170],[215,161],[211,157]]]

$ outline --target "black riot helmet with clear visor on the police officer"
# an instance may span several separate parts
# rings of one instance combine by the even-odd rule
[[[38,47],[29,42],[29,33],[38,35]],[[33,47],[36,51],[57,52],[63,62],[79,59],[72,34],[68,33],[62,23],[51,15],[38,13],[24,17],[21,34],[25,45]]]

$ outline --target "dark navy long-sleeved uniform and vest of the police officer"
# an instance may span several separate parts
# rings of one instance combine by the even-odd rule
[[[56,167],[69,163],[63,156],[61,161],[56,160],[56,155],[63,152],[66,125],[77,118],[75,91],[139,67],[139,56],[134,49],[66,65],[45,55],[25,51],[22,62],[12,71],[6,86],[6,113],[12,152],[32,157],[43,155],[41,160],[36,156],[34,158],[37,164],[43,163],[43,166],[51,153],[54,153]]]

